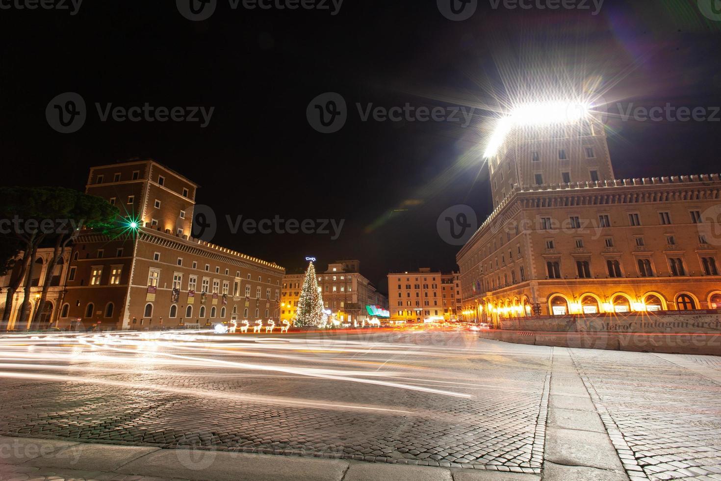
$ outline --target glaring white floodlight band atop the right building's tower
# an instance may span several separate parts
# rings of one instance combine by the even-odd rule
[[[585,118],[589,110],[589,105],[580,102],[537,102],[519,105],[511,110],[510,115],[498,120],[483,156],[488,158],[497,154],[513,127],[570,123]]]

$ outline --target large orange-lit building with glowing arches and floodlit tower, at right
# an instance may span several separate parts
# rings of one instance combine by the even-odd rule
[[[456,255],[468,317],[721,307],[719,175],[615,180],[593,112],[520,111],[487,149],[494,210]]]

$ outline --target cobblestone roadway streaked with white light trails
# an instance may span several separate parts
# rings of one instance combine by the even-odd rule
[[[0,433],[540,472],[549,348],[413,330],[184,338],[6,343]]]

